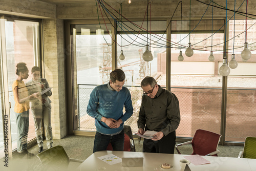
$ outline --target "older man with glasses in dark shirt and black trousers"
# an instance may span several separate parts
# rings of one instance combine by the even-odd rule
[[[176,133],[180,123],[179,100],[175,94],[162,89],[153,77],[141,81],[143,89],[138,128],[139,134],[157,131],[153,138],[144,139],[143,152],[174,154]]]

